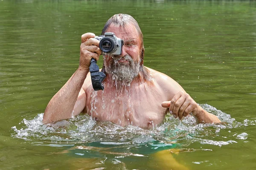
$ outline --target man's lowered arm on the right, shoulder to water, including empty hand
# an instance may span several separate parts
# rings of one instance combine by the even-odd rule
[[[186,117],[189,113],[192,113],[198,123],[219,123],[221,122],[217,116],[205,111],[199,106],[194,99],[171,77],[166,76],[163,73],[158,72],[158,82],[165,91],[166,99],[162,103],[162,107],[169,108],[169,112],[173,114],[175,118]]]

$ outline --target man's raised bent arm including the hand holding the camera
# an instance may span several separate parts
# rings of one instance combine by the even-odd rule
[[[90,60],[98,60],[102,51],[95,34],[86,33],[81,36],[79,68],[66,84],[52,97],[44,111],[44,123],[69,119],[78,115],[85,107],[86,94],[81,88],[89,72]]]

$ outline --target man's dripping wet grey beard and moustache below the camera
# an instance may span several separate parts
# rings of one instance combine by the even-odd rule
[[[105,71],[112,77],[114,81],[129,84],[135,77],[138,76],[140,71],[140,61],[134,62],[134,60],[128,54],[126,54],[124,57],[118,57],[115,55],[108,57],[111,57],[112,59],[108,65],[104,63]],[[128,65],[118,62],[122,58],[128,61]]]

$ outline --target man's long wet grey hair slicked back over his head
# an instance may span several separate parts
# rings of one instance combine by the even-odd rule
[[[144,51],[145,50],[144,50],[144,44],[143,44],[143,34],[142,34],[142,31],[140,30],[139,24],[137,23],[137,21],[131,15],[115,14],[110,19],[108,19],[108,21],[105,23],[105,26],[102,29],[102,35],[105,34],[105,32],[107,31],[109,26],[111,26],[111,24],[113,24],[115,26],[121,26],[121,27],[133,25],[136,28],[136,30],[138,31],[138,33],[140,35],[140,40],[141,40],[140,73],[142,73],[142,76],[143,76],[141,78],[143,78],[144,80],[148,80],[149,77],[150,77],[150,74],[149,74],[148,69],[145,68],[145,66],[143,65]],[[102,71],[105,72],[104,64],[102,66]]]

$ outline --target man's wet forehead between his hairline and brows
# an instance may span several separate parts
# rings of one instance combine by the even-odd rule
[[[116,34],[116,37],[121,38],[124,41],[139,40],[139,33],[135,26],[115,26],[110,25],[106,32],[113,32]]]

